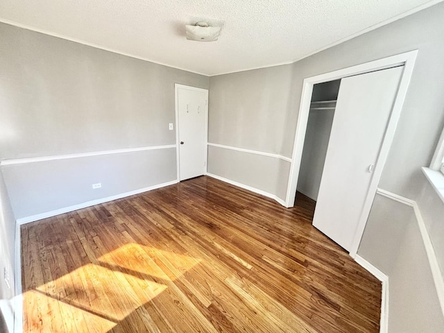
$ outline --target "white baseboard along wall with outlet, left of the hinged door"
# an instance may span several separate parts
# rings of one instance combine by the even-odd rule
[[[30,222],[34,222],[34,221],[38,221],[38,220],[42,220],[42,219],[47,219],[49,217],[52,216],[56,216],[56,215],[60,215],[60,214],[64,214],[67,212],[73,212],[74,210],[80,210],[82,208],[86,208],[86,207],[91,207],[94,205],[99,205],[101,203],[107,203],[108,201],[112,201],[112,200],[117,200],[117,199],[121,199],[121,198],[125,198],[127,196],[133,196],[135,194],[140,194],[146,191],[152,191],[153,189],[159,189],[160,187],[165,187],[165,186],[169,186],[169,185],[173,185],[178,183],[178,180],[172,180],[171,182],[163,182],[162,184],[157,184],[157,185],[153,185],[150,187],[144,187],[143,189],[136,189],[135,191],[129,191],[129,192],[125,192],[122,194],[117,194],[115,196],[108,196],[106,198],[100,198],[100,199],[96,199],[96,200],[91,200],[91,201],[87,201],[86,203],[80,203],[78,205],[72,205],[69,207],[63,207],[60,208],[58,210],[51,210],[50,212],[44,212],[42,214],[36,214],[36,215],[31,215],[31,216],[26,216],[26,217],[22,217],[20,219],[17,219],[16,223],[18,225],[22,225],[24,223],[30,223]]]

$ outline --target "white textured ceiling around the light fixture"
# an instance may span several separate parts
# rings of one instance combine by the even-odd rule
[[[440,0],[1,0],[0,20],[215,75],[304,58]],[[196,18],[216,42],[185,38]]]

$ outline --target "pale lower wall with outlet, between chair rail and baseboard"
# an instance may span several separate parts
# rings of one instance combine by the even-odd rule
[[[1,169],[16,219],[177,179],[176,148],[8,164]],[[92,189],[98,182],[102,187]]]

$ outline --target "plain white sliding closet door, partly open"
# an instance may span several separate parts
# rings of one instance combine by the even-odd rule
[[[404,67],[343,78],[313,225],[350,250]]]

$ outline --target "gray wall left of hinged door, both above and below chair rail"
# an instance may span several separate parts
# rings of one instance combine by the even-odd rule
[[[176,143],[174,83],[209,78],[0,24],[0,160]],[[176,179],[176,150],[2,167],[16,218]],[[101,189],[92,183],[101,182]]]

